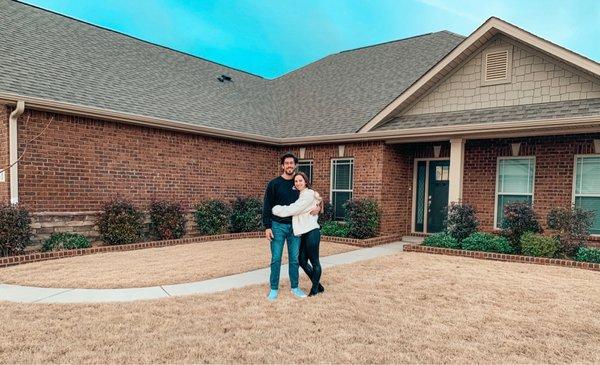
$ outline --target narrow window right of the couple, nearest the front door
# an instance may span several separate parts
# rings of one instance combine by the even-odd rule
[[[344,203],[352,199],[354,160],[331,160],[331,205],[333,217],[343,219]]]

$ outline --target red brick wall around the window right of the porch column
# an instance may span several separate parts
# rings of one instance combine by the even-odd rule
[[[499,156],[511,156],[511,143],[521,143],[519,156],[535,156],[534,206],[545,226],[551,208],[572,201],[574,159],[594,153],[599,134],[470,140],[465,145],[463,201],[475,206],[481,228],[492,230]]]

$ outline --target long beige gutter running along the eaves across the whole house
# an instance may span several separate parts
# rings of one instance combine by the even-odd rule
[[[514,136],[515,134],[547,133],[550,130],[553,130],[553,133],[565,134],[567,132],[589,132],[591,128],[593,128],[595,131],[596,129],[600,128],[600,115],[592,115],[555,119],[530,119],[498,123],[448,125],[384,131],[380,130],[362,133],[352,132],[308,137],[275,138],[3,92],[0,92],[0,101],[9,103],[17,102],[17,104],[18,102],[26,102],[28,109],[80,115],[107,121],[121,121],[129,124],[182,131],[248,143],[258,143],[273,147],[365,141],[386,141],[388,143],[428,142],[449,140],[450,138],[456,137],[464,137],[469,139],[501,138],[503,136]]]

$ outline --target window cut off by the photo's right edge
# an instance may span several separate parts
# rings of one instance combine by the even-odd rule
[[[600,234],[600,156],[575,158],[575,206],[596,212],[591,234]]]

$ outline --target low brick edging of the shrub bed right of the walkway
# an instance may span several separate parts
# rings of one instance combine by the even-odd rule
[[[452,249],[452,248],[431,247],[431,246],[423,246],[423,245],[406,245],[406,246],[404,246],[404,251],[424,252],[424,253],[432,253],[432,254],[438,254],[438,255],[462,256],[462,257],[470,257],[470,258],[482,259],[482,260],[518,262],[518,263],[537,264],[537,265],[552,265],[552,266],[562,266],[562,267],[577,267],[580,269],[600,271],[600,264],[597,264],[597,263],[573,261],[573,260],[563,260],[563,259],[550,259],[547,257],[509,255],[509,254],[496,253],[496,252],[456,250],[456,249]]]

